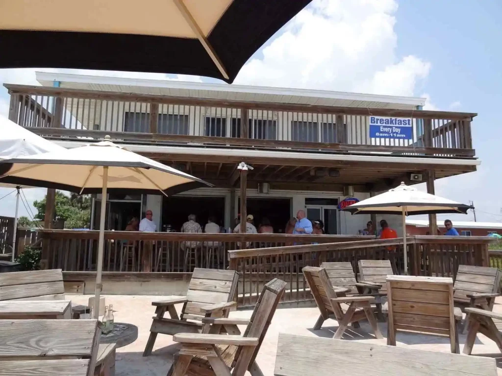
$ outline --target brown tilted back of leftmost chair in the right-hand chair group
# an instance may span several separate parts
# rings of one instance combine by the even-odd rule
[[[333,303],[330,299],[345,295],[335,293],[326,269],[316,266],[306,266],[302,271],[317,307],[321,311],[322,317],[327,319],[330,314],[334,314],[337,320],[341,320],[343,318],[343,311],[340,303]]]

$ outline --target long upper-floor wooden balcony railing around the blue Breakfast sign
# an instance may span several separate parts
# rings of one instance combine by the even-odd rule
[[[54,138],[473,157],[473,113],[239,102],[5,85],[9,118]],[[412,119],[410,139],[372,138],[370,116]],[[81,139],[80,139],[81,140]]]

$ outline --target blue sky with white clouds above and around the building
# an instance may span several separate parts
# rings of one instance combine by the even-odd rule
[[[324,89],[427,98],[424,109],[475,112],[476,172],[436,180],[436,195],[468,204],[477,221],[502,222],[502,2],[499,0],[314,0],[249,59],[236,84]],[[38,85],[35,71],[218,82],[198,76],[62,69],[0,70],[0,83]],[[9,95],[0,88],[0,113]],[[425,190],[425,184],[417,187]],[[0,215],[15,195],[0,189]],[[27,215],[45,190],[24,190]],[[34,211],[33,207],[31,210]],[[473,214],[439,215],[473,221]],[[418,216],[414,218],[420,218]]]

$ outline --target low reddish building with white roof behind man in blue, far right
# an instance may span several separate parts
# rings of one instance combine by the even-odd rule
[[[491,233],[502,235],[502,223],[500,222],[462,222],[452,220],[453,227],[459,235],[464,236],[487,236]],[[446,232],[444,223],[438,218],[438,230],[443,235]],[[406,232],[408,235],[429,235],[428,220],[406,220]],[[433,234],[430,234],[433,235]]]

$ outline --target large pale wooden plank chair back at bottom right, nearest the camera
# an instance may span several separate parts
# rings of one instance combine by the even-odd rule
[[[346,365],[346,366],[343,366]],[[279,333],[276,376],[495,376],[495,359]]]

